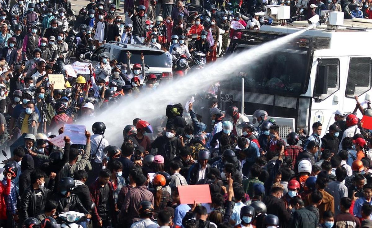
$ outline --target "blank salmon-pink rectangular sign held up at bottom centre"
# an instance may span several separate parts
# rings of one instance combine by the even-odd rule
[[[183,185],[178,186],[181,204],[211,203],[209,185]]]

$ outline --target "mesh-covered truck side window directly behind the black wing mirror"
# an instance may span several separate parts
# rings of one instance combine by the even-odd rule
[[[319,99],[324,100],[325,98],[332,95],[334,92],[340,89],[340,60],[339,59],[322,59],[322,66],[329,66],[328,71],[328,91],[327,94],[322,94]]]

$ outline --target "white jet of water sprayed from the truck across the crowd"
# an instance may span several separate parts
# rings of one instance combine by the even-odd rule
[[[192,95],[201,92],[208,85],[228,79],[234,75],[234,72],[254,64],[256,61],[262,61],[267,53],[306,31],[302,29],[247,51],[230,55],[224,61],[214,62],[201,70],[187,74],[187,76],[177,81],[174,80],[169,84],[160,85],[152,92],[140,94],[138,98],[129,97],[119,105],[103,111],[95,118],[86,118],[80,124],[87,126],[87,129],[90,130],[94,122],[102,121],[107,127],[106,139],[111,145],[120,146],[123,139],[122,131],[126,125],[132,124],[134,118],[138,117],[142,120],[151,121],[163,116],[168,104],[177,104],[190,99]]]

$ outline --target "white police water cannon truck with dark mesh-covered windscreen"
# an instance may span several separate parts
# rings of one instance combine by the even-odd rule
[[[221,82],[221,110],[230,105],[244,107],[250,120],[255,110],[266,110],[279,124],[281,137],[291,131],[311,134],[314,122],[323,124],[324,135],[334,123],[336,110],[352,112],[355,96],[360,101],[372,99],[372,49],[368,45],[372,19],[344,20],[342,12],[322,11],[320,17],[287,24],[289,6],[267,6],[265,15],[273,19],[272,25],[235,30],[241,38],[231,39],[229,54],[307,31]]]

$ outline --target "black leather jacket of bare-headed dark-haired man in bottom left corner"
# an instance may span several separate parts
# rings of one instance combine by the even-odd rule
[[[42,192],[40,211],[36,211],[36,193],[33,187],[29,186],[23,192],[19,210],[19,217],[21,220],[20,224],[22,224],[27,218],[35,217],[36,214],[39,213],[44,213],[45,203],[50,199],[52,191],[41,186],[39,189]]]

